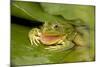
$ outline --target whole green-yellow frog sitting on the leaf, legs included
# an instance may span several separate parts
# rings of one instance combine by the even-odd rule
[[[42,44],[44,49],[50,51],[84,45],[74,26],[67,22],[44,22],[40,28],[32,28],[28,37],[32,46],[38,47]]]

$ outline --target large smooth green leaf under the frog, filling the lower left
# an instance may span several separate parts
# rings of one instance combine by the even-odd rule
[[[17,19],[18,20],[18,19]],[[22,21],[23,22],[23,21]],[[24,23],[24,22],[23,22]],[[31,27],[12,22],[11,24],[11,62],[14,65],[62,63],[68,51],[47,51],[44,47],[31,46],[28,33]],[[42,45],[42,44],[41,44]],[[60,52],[60,53],[59,53]]]

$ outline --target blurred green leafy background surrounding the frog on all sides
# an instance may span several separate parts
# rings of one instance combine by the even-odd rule
[[[33,27],[41,26],[45,21],[54,22],[56,16],[66,20],[81,19],[84,22],[73,22],[75,25],[88,25],[89,47],[74,47],[60,52],[48,52],[43,47],[32,47],[28,32]],[[21,2],[11,3],[11,64],[32,65],[85,62],[95,60],[94,29],[95,6]],[[80,30],[81,31],[81,30]]]

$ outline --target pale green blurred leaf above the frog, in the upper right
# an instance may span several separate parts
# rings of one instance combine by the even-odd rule
[[[52,15],[61,15],[67,19],[82,19],[87,23],[93,21],[94,6],[57,4],[57,3],[40,3],[45,12]]]

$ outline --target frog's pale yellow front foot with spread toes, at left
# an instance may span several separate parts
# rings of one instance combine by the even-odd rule
[[[38,44],[40,44],[39,42],[39,36],[40,36],[40,29],[38,28],[33,28],[30,32],[29,32],[29,40],[31,45],[36,45],[38,46]]]

